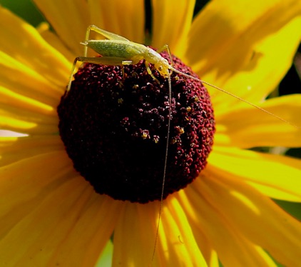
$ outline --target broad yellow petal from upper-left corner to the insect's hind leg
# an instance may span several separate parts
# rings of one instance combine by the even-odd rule
[[[71,63],[47,44],[33,26],[2,7],[0,16],[0,51],[60,86],[63,93]]]

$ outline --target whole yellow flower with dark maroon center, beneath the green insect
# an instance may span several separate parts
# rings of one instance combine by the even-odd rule
[[[112,236],[113,266],[297,266],[300,223],[271,198],[300,201],[301,161],[247,148],[300,146],[300,129],[175,74],[167,109],[141,64],[88,64],[63,96],[88,25],[144,42],[143,1],[35,2],[56,34],[0,9],[0,129],[26,135],[0,141],[0,266],[94,266]],[[153,0],[151,46],[300,126],[300,95],[265,101],[300,42],[300,1],[212,1],[192,20],[194,4]]]

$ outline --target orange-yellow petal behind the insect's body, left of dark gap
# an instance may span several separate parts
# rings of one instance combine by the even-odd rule
[[[144,1],[92,0],[89,11],[91,24],[130,41],[144,42]]]

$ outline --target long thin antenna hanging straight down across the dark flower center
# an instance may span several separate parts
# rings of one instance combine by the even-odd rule
[[[170,137],[170,121],[171,121],[171,118],[170,118],[171,117],[171,79],[170,79],[170,75],[168,76],[168,102],[169,102],[169,107],[168,107],[169,116],[168,116],[168,126],[167,126],[167,136],[166,136],[166,148],[165,148],[165,159],[164,159],[164,169],[163,169],[162,191],[161,191],[157,231],[155,232],[155,245],[153,246],[153,256],[151,258],[151,261],[153,261],[153,258],[155,258],[155,248],[156,248],[157,243],[158,243],[159,227],[160,227],[161,213],[162,213],[162,208],[163,208],[163,194],[164,194],[164,186],[165,186],[165,178],[166,178],[166,168],[167,168],[167,159],[168,159],[168,146],[169,146],[169,137]]]

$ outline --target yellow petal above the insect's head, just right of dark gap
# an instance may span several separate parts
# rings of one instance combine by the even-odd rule
[[[160,49],[165,44],[170,51],[181,57],[185,51],[187,35],[193,20],[195,0],[152,1],[153,33],[152,45]]]

